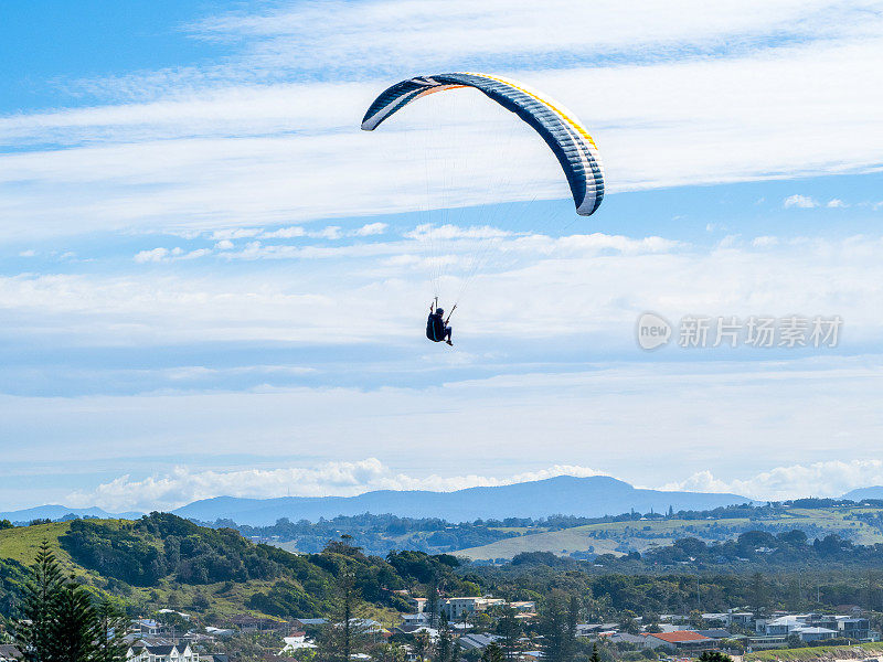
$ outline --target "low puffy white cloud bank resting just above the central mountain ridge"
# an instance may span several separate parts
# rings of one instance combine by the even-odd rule
[[[602,473],[587,467],[564,465],[506,478],[477,474],[415,477],[395,473],[376,458],[354,462],[326,462],[316,467],[233,471],[194,471],[187,467],[177,467],[169,473],[140,480],[121,476],[94,490],[74,492],[67,496],[66,502],[74,506],[98,505],[111,512],[171,510],[198,499],[220,495],[352,496],[371,490],[450,492],[466,488],[543,480],[562,474],[587,477]]]

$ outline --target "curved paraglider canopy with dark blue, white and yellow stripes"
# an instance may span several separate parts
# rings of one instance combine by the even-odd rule
[[[571,185],[576,213],[592,215],[604,197],[604,167],[588,131],[573,114],[525,86],[488,74],[417,76],[383,92],[365,113],[362,129],[373,131],[411,102],[457,87],[474,87],[518,115],[542,136]]]

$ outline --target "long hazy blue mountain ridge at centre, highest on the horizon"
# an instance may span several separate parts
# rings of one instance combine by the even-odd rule
[[[738,494],[642,490],[606,476],[558,476],[511,485],[468,488],[456,492],[380,490],[358,496],[281,496],[241,499],[216,496],[194,501],[172,511],[203,522],[230,519],[237,524],[266,526],[280,517],[291,521],[337,515],[394,514],[402,517],[439,517],[449,522],[506,517],[577,515],[598,517],[635,510],[641,513],[710,510],[753,502]]]

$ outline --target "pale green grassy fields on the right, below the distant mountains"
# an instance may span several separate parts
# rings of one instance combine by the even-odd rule
[[[497,541],[481,547],[457,552],[471,559],[512,558],[521,552],[552,552],[566,555],[572,552],[595,554],[621,554],[624,548],[645,552],[653,546],[670,545],[681,537],[698,537],[705,542],[721,540],[721,527],[731,530],[725,537],[735,537],[740,531],[763,525],[792,526],[794,528],[818,530],[837,533],[857,544],[883,543],[883,533],[864,522],[849,520],[850,515],[879,510],[842,509],[794,509],[776,517],[752,522],[747,519],[733,520],[662,520],[630,521],[603,524],[588,524],[562,531],[528,533],[518,537]]]

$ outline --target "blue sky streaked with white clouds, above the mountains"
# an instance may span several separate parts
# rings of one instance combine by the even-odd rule
[[[825,1],[3,4],[0,510],[883,482],[881,23]],[[359,131],[385,86],[450,70],[574,110],[599,212],[476,95]],[[453,350],[423,338],[437,260]],[[843,327],[647,353],[646,311]]]

